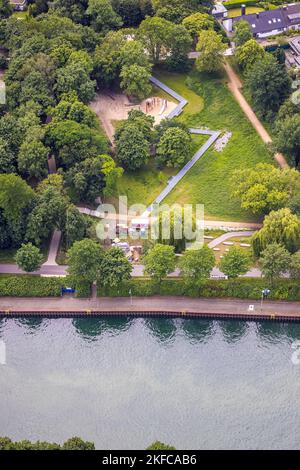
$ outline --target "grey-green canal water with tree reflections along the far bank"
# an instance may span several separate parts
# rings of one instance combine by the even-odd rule
[[[300,325],[2,319],[0,339],[1,436],[78,435],[99,449],[157,439],[177,449],[300,447]]]

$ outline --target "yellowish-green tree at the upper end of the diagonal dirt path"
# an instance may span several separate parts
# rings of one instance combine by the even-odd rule
[[[201,31],[196,47],[200,53],[196,59],[196,68],[199,72],[216,72],[223,64],[223,51],[225,45],[222,38],[215,31]]]

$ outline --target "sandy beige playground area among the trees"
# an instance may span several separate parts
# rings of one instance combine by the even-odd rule
[[[91,109],[97,114],[109,140],[113,142],[115,122],[127,119],[129,111],[139,109],[153,116],[155,124],[166,118],[177,106],[174,101],[159,96],[151,96],[141,103],[131,103],[122,93],[98,93],[90,103]]]

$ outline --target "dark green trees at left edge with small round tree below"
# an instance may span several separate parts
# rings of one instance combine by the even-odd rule
[[[87,236],[90,227],[64,191],[60,175],[50,175],[33,190],[20,176],[1,174],[0,221],[0,248],[21,247],[16,260],[28,272],[40,266],[40,248],[55,229],[62,231],[68,247]]]

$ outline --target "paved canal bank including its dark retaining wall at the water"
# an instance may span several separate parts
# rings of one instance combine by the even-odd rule
[[[245,320],[300,321],[300,302],[153,297],[2,297],[1,317],[18,316],[165,316]]]

